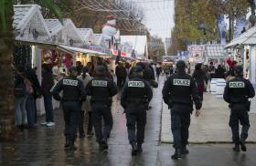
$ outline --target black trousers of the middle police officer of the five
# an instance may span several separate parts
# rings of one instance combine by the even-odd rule
[[[130,107],[126,112],[126,127],[128,131],[128,139],[130,143],[137,142],[143,144],[144,142],[144,128],[146,124],[146,109],[144,105]]]

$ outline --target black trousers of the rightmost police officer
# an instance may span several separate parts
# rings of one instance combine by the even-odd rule
[[[240,133],[240,124],[242,126]],[[245,104],[231,105],[231,113],[229,117],[229,127],[232,130],[232,140],[239,145],[240,139],[246,140],[248,137],[248,130],[250,128],[250,121],[248,111]]]

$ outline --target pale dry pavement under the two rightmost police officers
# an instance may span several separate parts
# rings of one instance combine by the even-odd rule
[[[202,114],[199,118],[191,116],[189,129],[190,143],[229,143],[231,142],[231,130],[229,128],[228,103],[223,99],[216,99],[210,93],[205,93]],[[171,133],[170,110],[163,103],[161,142],[173,142]],[[251,129],[248,141],[256,142],[256,114],[250,113]]]

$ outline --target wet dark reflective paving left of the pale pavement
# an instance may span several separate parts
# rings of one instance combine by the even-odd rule
[[[25,130],[16,134],[14,142],[0,142],[0,165],[157,165],[161,130],[161,89],[155,89],[151,102],[153,109],[148,111],[145,131],[144,153],[132,157],[131,146],[127,138],[126,119],[120,105],[120,93],[113,99],[113,129],[109,140],[108,153],[100,153],[95,137],[78,139],[79,150],[64,150],[64,122],[61,110],[55,110],[56,126],[46,128],[37,126],[34,130]],[[44,118],[40,118],[43,121]]]

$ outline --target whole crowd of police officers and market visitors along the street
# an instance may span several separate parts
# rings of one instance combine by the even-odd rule
[[[76,67],[69,67],[69,75],[58,67],[50,64],[42,65],[42,83],[37,79],[37,68],[17,67],[15,80],[16,97],[16,126],[23,130],[25,127],[34,128],[37,124],[36,100],[44,98],[46,120],[41,123],[48,127],[54,126],[52,98],[61,101],[63,109],[66,138],[65,150],[77,150],[75,140],[80,134],[84,138],[84,119],[88,115],[87,135],[95,134],[100,150],[108,150],[112,119],[112,97],[122,90],[121,105],[126,116],[128,140],[132,145],[132,155],[143,151],[146,110],[153,98],[152,88],[157,88],[160,74],[165,74],[165,86],[162,90],[163,99],[171,109],[172,132],[176,152],[173,159],[181,158],[188,150],[188,128],[193,102],[196,105],[196,116],[200,115],[203,93],[211,78],[226,78],[224,99],[229,102],[231,116],[229,126],[233,134],[235,147],[233,150],[246,150],[245,140],[250,127],[248,119],[248,98],[253,98],[254,88],[251,82],[242,78],[243,69],[236,61],[229,62],[229,70],[220,65],[216,68],[213,63],[203,65],[198,63],[192,75],[187,74],[187,64],[179,60],[176,66],[163,66],[146,62],[130,65],[127,62],[117,62],[115,68],[116,82],[104,60],[99,60],[94,67],[92,63],[82,66],[77,62]],[[56,80],[56,83],[54,81]],[[234,104],[235,103],[235,104]],[[242,114],[240,113],[242,110]],[[102,119],[104,127],[102,128]],[[242,124],[239,136],[239,123]],[[27,125],[26,125],[27,124]],[[92,131],[94,128],[94,133]]]

